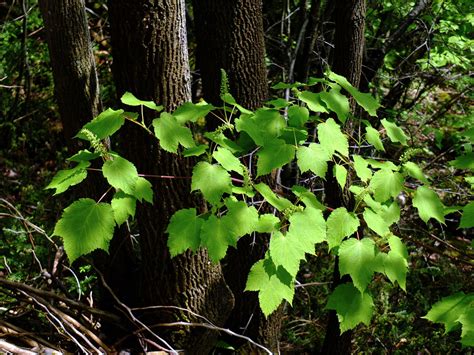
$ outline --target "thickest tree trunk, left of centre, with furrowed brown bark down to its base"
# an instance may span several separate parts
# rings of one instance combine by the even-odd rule
[[[113,74],[119,95],[130,91],[172,110],[190,100],[184,0],[109,1],[113,47]],[[154,118],[146,115],[148,123]],[[177,155],[159,150],[143,131],[128,127],[124,136],[128,157],[145,174],[188,176],[192,165]],[[158,180],[153,184],[154,205],[138,211],[144,305],[179,306],[222,325],[233,305],[220,265],[207,253],[186,253],[170,258],[165,229],[171,215],[190,207],[190,179]],[[131,290],[133,292],[134,290]],[[198,321],[172,309],[145,316],[149,324],[176,320]],[[165,333],[166,330],[166,333]],[[217,334],[203,328],[160,329],[176,348],[205,354]]]

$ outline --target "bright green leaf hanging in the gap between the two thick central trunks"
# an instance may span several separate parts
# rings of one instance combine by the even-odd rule
[[[224,193],[232,192],[232,180],[223,167],[202,161],[193,169],[191,191],[196,190],[200,190],[208,202],[216,204]]]

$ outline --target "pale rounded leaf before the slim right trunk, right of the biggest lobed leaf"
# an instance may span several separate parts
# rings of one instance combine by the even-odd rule
[[[347,212],[345,207],[332,211],[326,222],[329,249],[339,246],[345,237],[357,232],[359,225],[359,218],[354,213]]]

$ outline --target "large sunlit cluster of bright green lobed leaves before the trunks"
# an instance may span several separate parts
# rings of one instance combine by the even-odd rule
[[[312,85],[322,90],[304,90]],[[368,286],[375,273],[406,288],[408,253],[391,229],[400,218],[397,196],[402,191],[413,194],[413,205],[425,222],[435,219],[444,223],[444,215],[450,210],[415,163],[403,161],[396,165],[350,154],[350,139],[354,144],[384,151],[381,132],[368,121],[362,122],[365,134],[359,139],[348,137],[342,129],[350,115],[350,104],[341,91],[344,89],[375,116],[379,104],[369,94],[359,92],[345,78],[331,72],[306,84],[280,83],[274,88],[291,89],[294,101],[275,99],[253,112],[224,93],[223,107],[188,102],[173,113],[161,112],[149,127],[136,114],[111,109],[86,124],[77,137],[89,141],[91,151],[83,150],[69,158],[76,166],[60,171],[48,188],[56,189],[56,194],[66,191],[86,178],[91,160],[101,159],[102,174],[115,195],[110,203],[80,199],[65,209],[54,234],[63,238],[69,260],[97,248],[107,250],[115,225],[134,217],[136,201],[153,201],[151,184],[131,162],[103,143],[125,120],[130,120],[154,134],[162,149],[202,158],[190,177],[191,189],[202,195],[208,209],[182,209],[172,216],[167,228],[171,256],[206,248],[211,260],[219,262],[244,235],[259,238],[270,234],[268,251],[251,268],[246,284],[247,291],[258,292],[260,307],[268,316],[284,300],[292,303],[301,261],[307,254],[315,254],[318,245],[327,243],[329,250],[339,256],[340,274],[349,275],[352,282],[339,285],[329,296],[326,308],[336,310],[341,331],[361,322],[368,324],[374,307]],[[122,97],[122,102],[162,110],[130,93]],[[204,134],[207,144],[199,143],[189,125],[213,111],[224,112],[223,124]],[[395,123],[381,123],[392,143],[407,145],[406,135]],[[309,139],[312,128],[315,138]],[[323,180],[332,167],[340,188],[354,195],[354,209],[324,206],[302,185],[293,186],[291,195],[276,194],[265,177],[295,160],[302,173]],[[348,184],[352,174],[356,180]],[[416,190],[404,185],[408,178],[419,181]],[[262,213],[263,204],[271,206],[273,213]],[[330,212],[327,218],[323,216],[326,210]],[[368,230],[361,232],[363,225]]]

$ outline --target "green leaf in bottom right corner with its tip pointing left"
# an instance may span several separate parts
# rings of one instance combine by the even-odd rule
[[[435,303],[431,310],[421,318],[428,319],[433,323],[444,324],[445,332],[449,333],[459,325],[458,319],[466,309],[474,307],[473,302],[474,293],[458,292]]]

